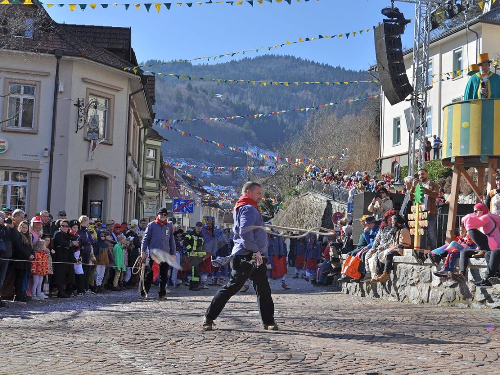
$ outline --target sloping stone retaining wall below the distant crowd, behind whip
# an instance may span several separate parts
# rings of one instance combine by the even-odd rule
[[[332,200],[323,194],[308,191],[299,196],[287,198],[283,204],[285,208],[272,219],[275,225],[292,228],[313,228],[322,226],[332,228],[331,215],[333,212],[345,214],[346,205]]]

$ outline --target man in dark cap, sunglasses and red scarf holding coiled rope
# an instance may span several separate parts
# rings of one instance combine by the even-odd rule
[[[144,231],[144,237],[142,238],[141,242],[142,259],[145,259],[146,255],[149,254],[149,250],[153,248],[166,251],[170,253],[170,255],[175,255],[176,246],[173,236],[173,226],[166,220],[167,215],[167,209],[162,207],[156,213],[156,219],[147,224]],[[153,279],[153,263],[154,260],[149,258],[149,270],[144,277],[144,289],[146,290],[146,293],[149,292],[149,288],[151,287],[151,282]],[[158,295],[162,299],[166,299],[166,293],[170,292],[166,289],[166,281],[168,277],[167,272],[168,263],[159,263],[160,282]],[[140,295],[142,298],[146,296],[145,294],[143,294],[143,291],[141,291]]]

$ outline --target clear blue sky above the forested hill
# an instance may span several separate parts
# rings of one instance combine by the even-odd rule
[[[132,47],[137,59],[142,61],[222,54],[270,46],[287,39],[293,41],[299,36],[305,38],[371,28],[383,18],[380,9],[388,5],[388,0],[310,0],[299,3],[292,0],[291,5],[283,1],[264,2],[263,6],[255,1],[253,7],[247,3],[240,6],[193,4],[190,8],[172,4],[170,10],[163,6],[159,14],[153,6],[147,13],[143,6],[137,10],[133,5],[128,10],[122,5],[107,9],[97,7],[95,10],[87,6],[83,11],[53,6],[47,10],[57,22],[131,27]],[[413,18],[413,5],[396,2],[396,6],[404,11],[406,18]],[[411,45],[412,34],[413,25],[410,23],[403,35],[404,45]],[[354,38],[321,39],[284,46],[272,53],[292,54],[352,69],[367,69],[375,62],[372,30]]]

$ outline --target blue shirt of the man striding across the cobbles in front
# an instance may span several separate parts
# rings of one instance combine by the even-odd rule
[[[246,204],[236,208],[232,213],[234,224],[233,255],[248,255],[260,251],[262,256],[267,257],[267,233],[263,228],[251,228],[251,226],[264,226],[264,220],[257,208]]]

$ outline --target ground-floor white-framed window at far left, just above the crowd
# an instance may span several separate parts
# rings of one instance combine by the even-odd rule
[[[0,170],[0,206],[26,210],[27,172]]]

